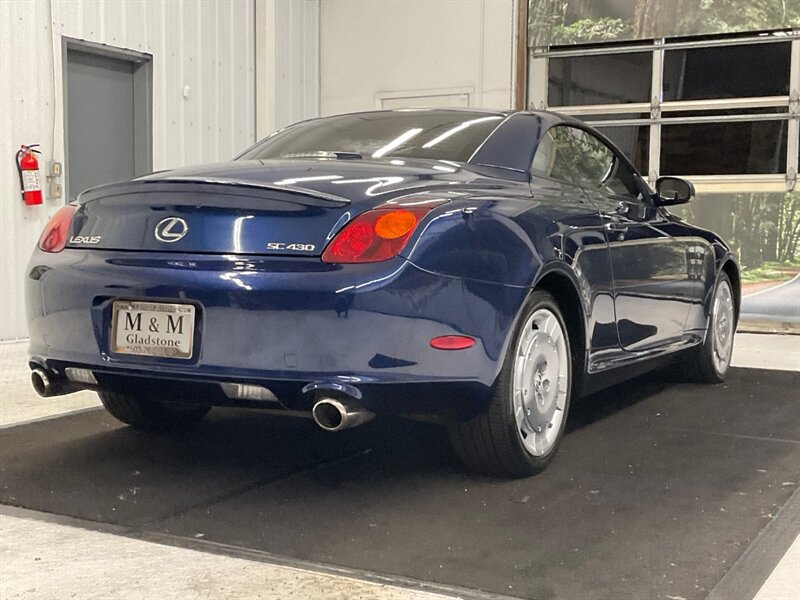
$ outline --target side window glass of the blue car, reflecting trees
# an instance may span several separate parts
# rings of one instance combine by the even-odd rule
[[[600,139],[575,127],[560,125],[545,134],[531,172],[605,194],[640,196],[633,171]]]

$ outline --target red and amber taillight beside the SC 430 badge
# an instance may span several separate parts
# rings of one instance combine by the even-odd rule
[[[380,207],[345,225],[322,253],[323,262],[380,262],[397,256],[419,222],[440,202],[426,206]]]

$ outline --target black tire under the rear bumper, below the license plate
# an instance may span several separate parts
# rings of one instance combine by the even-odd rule
[[[100,401],[111,415],[142,431],[183,429],[200,421],[210,406],[161,402],[119,392],[98,392]]]

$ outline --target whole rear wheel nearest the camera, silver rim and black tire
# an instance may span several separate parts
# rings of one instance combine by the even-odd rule
[[[567,422],[572,360],[564,319],[553,297],[526,303],[486,412],[449,426],[457,454],[472,471],[526,477],[544,469]]]

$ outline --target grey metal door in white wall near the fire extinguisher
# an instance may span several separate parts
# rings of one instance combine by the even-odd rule
[[[106,51],[107,52],[107,51]],[[67,198],[152,169],[149,68],[92,49],[66,47]],[[148,65],[149,66],[149,65]],[[144,84],[144,85],[143,85]]]

